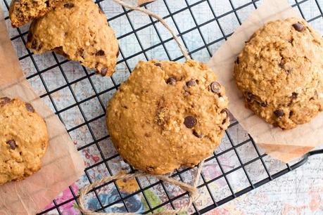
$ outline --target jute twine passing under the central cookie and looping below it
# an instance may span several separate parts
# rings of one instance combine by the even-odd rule
[[[191,59],[191,57],[189,56],[188,51],[186,50],[184,45],[181,43],[181,41],[177,37],[177,34],[175,34],[175,32],[167,24],[167,22],[165,22],[165,20],[163,20],[163,18],[161,18],[159,15],[156,15],[155,13],[152,13],[151,11],[148,11],[145,8],[140,8],[140,7],[137,7],[137,6],[132,6],[132,5],[126,4],[122,0],[113,0],[113,1],[120,4],[121,6],[124,6],[125,8],[130,8],[130,9],[132,9],[134,11],[141,11],[142,13],[146,13],[147,15],[150,15],[151,17],[156,18],[158,21],[160,21],[160,23],[162,23],[167,28],[167,30],[170,31],[170,33],[172,34],[172,37],[174,37],[175,41],[177,42],[177,44],[178,44],[179,48],[181,49],[181,51],[182,51],[184,57],[186,58],[186,60]],[[167,181],[168,183],[171,183],[172,185],[177,185],[177,186],[179,186],[179,188],[182,188],[183,190],[185,190],[185,191],[187,191],[189,193],[189,202],[186,205],[184,205],[183,207],[181,207],[179,209],[175,209],[175,210],[166,210],[166,211],[161,211],[161,212],[158,212],[158,213],[154,213],[154,214],[180,214],[182,212],[187,211],[187,209],[189,209],[189,207],[191,207],[191,204],[195,200],[197,200],[197,198],[198,198],[198,189],[196,187],[197,187],[197,185],[198,185],[198,183],[200,181],[201,171],[203,169],[203,164],[204,164],[204,161],[202,161],[200,164],[198,164],[198,170],[196,172],[196,176],[195,176],[195,180],[194,180],[193,185],[183,183],[182,181],[177,181],[174,178],[170,178],[168,176],[154,176],[154,175],[145,174],[145,173],[142,173],[142,172],[135,173],[135,174],[121,174],[121,175],[102,178],[101,180],[96,181],[94,183],[91,183],[91,184],[85,186],[84,188],[82,188],[82,190],[80,191],[80,197],[78,199],[80,211],[82,211],[82,213],[85,214],[85,215],[115,215],[115,214],[117,214],[117,215],[118,214],[120,214],[120,215],[133,215],[134,213],[101,213],[101,212],[90,211],[84,205],[85,196],[92,189],[96,188],[99,185],[103,185],[105,183],[108,183],[109,181],[120,180],[120,179],[128,180],[128,179],[131,179],[131,178],[134,178],[134,177],[143,177],[143,176],[147,177],[148,176],[148,177],[156,177],[160,181]]]

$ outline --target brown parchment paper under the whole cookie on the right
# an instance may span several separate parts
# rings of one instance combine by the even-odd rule
[[[245,41],[253,32],[270,20],[298,17],[286,0],[265,0],[248,19],[236,30],[210,60],[210,67],[217,74],[229,97],[229,110],[239,121],[243,129],[251,134],[255,143],[268,155],[290,162],[301,157],[317,145],[323,143],[323,113],[308,124],[299,125],[296,129],[283,131],[267,124],[246,109],[242,94],[236,87],[233,78],[234,60],[242,51]]]

